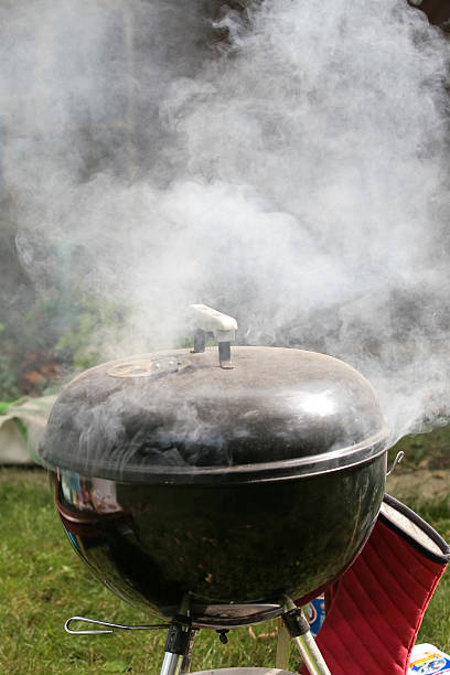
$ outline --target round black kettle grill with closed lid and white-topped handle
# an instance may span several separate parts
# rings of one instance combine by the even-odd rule
[[[69,383],[40,451],[79,556],[167,621],[181,651],[201,628],[224,638],[338,579],[377,517],[387,454],[376,395],[353,367],[232,347],[234,319],[192,311],[193,350],[110,362]],[[205,346],[207,333],[218,347]]]

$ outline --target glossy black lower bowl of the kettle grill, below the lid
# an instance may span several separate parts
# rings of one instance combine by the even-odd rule
[[[93,479],[53,480],[72,544],[110,590],[165,618],[188,602],[194,625],[217,629],[278,615],[285,593],[307,601],[335,580],[372,531],[385,471],[382,454],[312,478],[114,483],[108,513],[89,501]]]

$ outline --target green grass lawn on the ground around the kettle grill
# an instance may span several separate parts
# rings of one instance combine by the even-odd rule
[[[440,475],[440,490],[424,500],[420,485],[400,494],[422,517],[450,539],[450,431],[401,441],[408,471],[419,465]],[[425,444],[425,449],[424,449]],[[431,452],[427,452],[431,448]],[[432,457],[431,457],[432,456]],[[439,459],[441,458],[441,459]],[[442,478],[443,476],[443,478]],[[442,482],[443,481],[443,482]],[[397,484],[398,485],[398,484]],[[447,488],[446,488],[447,486]],[[398,488],[401,492],[401,485]],[[389,492],[396,494],[396,490]],[[163,632],[71,636],[63,631],[69,615],[119,623],[149,623],[143,614],[100,587],[71,550],[55,515],[46,475],[41,471],[0,470],[0,673],[25,675],[159,673]],[[256,626],[260,633],[274,624]],[[450,652],[450,574],[441,580],[425,618],[420,642]],[[254,640],[233,631],[227,645],[214,632],[201,631],[193,669],[274,666],[275,640]],[[292,654],[290,669],[296,669]]]

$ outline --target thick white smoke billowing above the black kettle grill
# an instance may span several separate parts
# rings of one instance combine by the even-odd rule
[[[105,356],[170,345],[204,302],[240,341],[355,365],[393,439],[448,415],[449,43],[421,12],[29,0],[0,20],[21,258],[41,289],[132,309]]]

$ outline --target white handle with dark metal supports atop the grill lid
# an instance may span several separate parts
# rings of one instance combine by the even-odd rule
[[[194,312],[195,335],[193,353],[205,351],[206,333],[213,333],[218,343],[218,362],[221,368],[233,368],[232,342],[236,339],[237,321],[233,317],[217,312],[206,304],[191,304]]]

